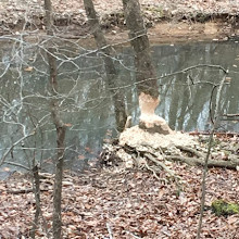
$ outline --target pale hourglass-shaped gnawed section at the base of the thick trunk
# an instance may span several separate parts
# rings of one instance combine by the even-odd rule
[[[166,121],[155,114],[155,109],[160,100],[152,98],[150,95],[141,92],[139,96],[139,108],[141,115],[139,127],[149,133],[159,133],[169,135],[174,131],[169,128]]]

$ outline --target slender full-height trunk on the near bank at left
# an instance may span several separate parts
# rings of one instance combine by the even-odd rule
[[[47,34],[53,36],[53,21],[52,21],[52,7],[51,0],[45,0],[46,10],[46,26]],[[54,49],[52,47],[48,48],[47,52],[48,64],[50,70],[50,91],[52,96],[58,96],[58,71],[56,61],[54,58]],[[64,162],[64,140],[65,140],[65,125],[60,116],[59,102],[56,99],[51,100],[50,103],[51,116],[56,129],[56,144],[58,152],[55,159],[55,177],[54,177],[54,194],[53,194],[53,238],[62,238],[61,234],[61,200],[62,200],[62,177],[63,177],[63,162]]]

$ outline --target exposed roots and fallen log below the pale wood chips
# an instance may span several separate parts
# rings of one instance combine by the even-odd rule
[[[105,144],[103,153],[101,154],[101,162],[105,165],[123,165],[126,168],[138,167],[147,168],[159,179],[166,181],[159,177],[159,173],[165,171],[169,178],[176,183],[179,177],[175,175],[174,171],[167,166],[168,161],[186,163],[191,166],[204,166],[205,153],[203,149],[196,149],[186,146],[174,146],[175,150],[168,153],[168,149],[152,148],[150,146],[139,144],[129,146],[125,143]],[[209,167],[226,167],[237,169],[239,166],[239,158],[232,155],[230,160],[209,160]]]

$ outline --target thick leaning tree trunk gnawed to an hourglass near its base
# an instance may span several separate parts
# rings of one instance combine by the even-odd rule
[[[129,39],[135,51],[136,78],[139,90],[139,106],[141,110],[141,128],[161,134],[171,134],[172,129],[166,122],[155,115],[154,111],[160,102],[156,74],[150,54],[150,43],[147,29],[141,16],[138,0],[123,0],[124,14]]]

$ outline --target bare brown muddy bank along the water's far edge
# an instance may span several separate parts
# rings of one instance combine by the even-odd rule
[[[115,48],[129,46],[128,30],[126,27],[111,27],[104,29],[108,42]],[[13,28],[11,33],[2,34],[4,36],[17,38],[21,35],[25,39],[36,42],[39,38],[46,38],[47,34],[43,29],[22,29]],[[96,42],[90,34],[88,26],[55,26],[55,36],[58,39],[67,39],[77,41],[83,47],[95,48]],[[187,43],[196,41],[226,41],[232,39],[238,41],[239,30],[227,25],[227,22],[217,20],[206,23],[188,23],[188,22],[162,22],[153,27],[148,28],[148,36],[151,45],[174,45]]]

